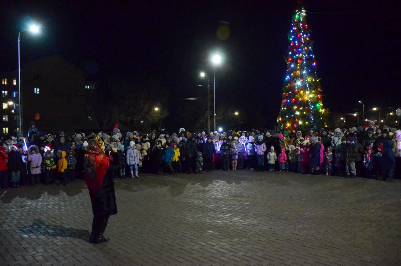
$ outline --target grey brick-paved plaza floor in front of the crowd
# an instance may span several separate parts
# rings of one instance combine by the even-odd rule
[[[401,182],[213,171],[115,181],[90,244],[83,180],[0,190],[0,265],[401,265]]]

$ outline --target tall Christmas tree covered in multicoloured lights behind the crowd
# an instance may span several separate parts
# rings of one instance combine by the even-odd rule
[[[292,19],[283,101],[277,117],[280,129],[292,132],[326,126],[327,110],[323,108],[313,42],[305,17],[306,12],[302,8],[295,11]]]

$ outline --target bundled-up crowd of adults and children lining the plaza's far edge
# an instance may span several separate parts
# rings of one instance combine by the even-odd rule
[[[154,174],[201,174],[212,170],[286,171],[393,181],[401,175],[401,131],[374,121],[351,129],[309,129],[307,132],[266,129],[195,132],[184,128],[169,134],[163,128],[149,134],[115,125],[110,133],[64,131],[40,134],[32,122],[27,135],[6,134],[0,146],[1,188],[20,185],[67,185],[84,178],[88,143],[99,136],[105,155],[117,150],[116,178]],[[115,148],[115,149],[113,149]]]

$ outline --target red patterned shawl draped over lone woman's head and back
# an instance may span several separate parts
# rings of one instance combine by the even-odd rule
[[[96,194],[102,185],[109,168],[109,160],[97,142],[93,143],[85,154],[84,175],[90,194]]]

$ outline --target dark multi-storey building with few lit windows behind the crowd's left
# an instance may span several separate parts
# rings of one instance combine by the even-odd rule
[[[0,72],[2,132],[18,132],[18,72]],[[66,134],[97,128],[93,114],[96,83],[88,82],[75,65],[54,55],[26,63],[21,68],[22,129],[31,121],[41,133]]]

